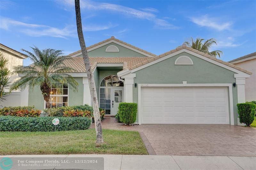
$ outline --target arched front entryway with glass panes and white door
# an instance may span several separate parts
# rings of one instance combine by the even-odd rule
[[[100,108],[106,115],[116,115],[118,105],[124,100],[124,82],[116,75],[109,75],[100,82]]]

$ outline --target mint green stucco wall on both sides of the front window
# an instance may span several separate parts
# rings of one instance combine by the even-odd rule
[[[74,92],[73,90],[68,90],[68,105],[83,105],[83,94],[84,94],[84,85],[83,78],[77,77],[75,78],[78,82],[78,92]],[[43,110],[44,109],[44,98],[40,87],[35,87],[33,91],[31,89],[28,92],[28,106],[34,105],[36,109]]]

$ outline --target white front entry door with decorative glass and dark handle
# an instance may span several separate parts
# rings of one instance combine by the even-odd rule
[[[116,115],[119,103],[124,100],[123,88],[112,88],[111,115]]]

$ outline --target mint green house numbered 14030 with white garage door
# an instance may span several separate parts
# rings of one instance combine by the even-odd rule
[[[138,103],[139,124],[237,124],[237,103],[245,102],[245,79],[252,74],[183,44],[155,55],[115,37],[87,47],[99,105],[116,115],[120,102]],[[65,64],[78,92],[52,89],[51,106],[91,104],[81,50]],[[44,109],[39,88],[28,105]]]

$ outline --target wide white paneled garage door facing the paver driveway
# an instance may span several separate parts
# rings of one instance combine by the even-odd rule
[[[141,87],[142,124],[228,124],[227,87]]]

